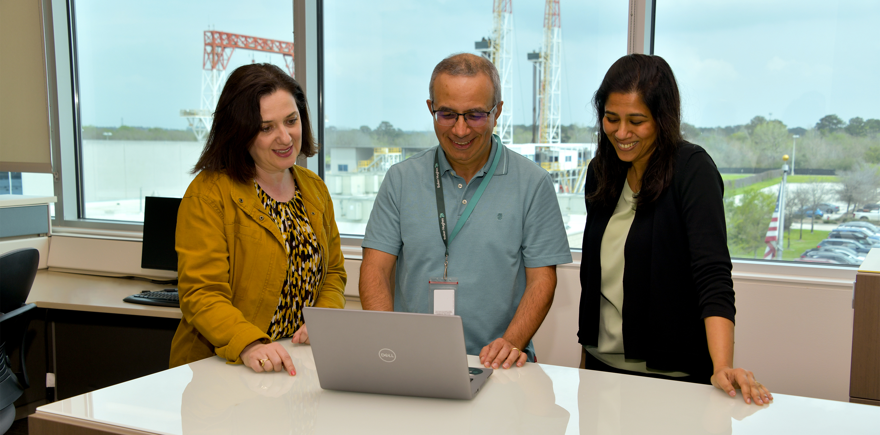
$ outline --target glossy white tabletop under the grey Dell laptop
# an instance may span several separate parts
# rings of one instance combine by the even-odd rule
[[[707,385],[540,364],[496,370],[472,401],[322,390],[311,347],[282,343],[297,376],[215,357],[37,412],[161,434],[880,433],[876,406],[781,394],[747,405]]]

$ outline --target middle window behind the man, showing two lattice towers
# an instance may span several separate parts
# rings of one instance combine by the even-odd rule
[[[440,0],[405,7],[357,0],[324,0],[323,5],[324,176],[340,232],[363,235],[388,168],[437,144],[425,106],[431,71],[449,54],[480,54],[480,47],[491,47],[493,2],[464,9]],[[503,97],[504,111],[512,116],[504,137],[512,138],[511,149],[550,171],[569,243],[580,248],[586,212],[578,174],[596,141],[589,101],[608,66],[626,54],[627,3],[561,5],[556,143],[546,143],[540,129],[532,128],[530,59],[541,52],[544,2],[513,2],[513,8],[511,85]],[[495,134],[502,133],[495,128]]]

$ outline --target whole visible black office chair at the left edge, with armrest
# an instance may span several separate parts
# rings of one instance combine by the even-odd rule
[[[25,333],[29,313],[36,304],[25,304],[40,265],[40,251],[11,250],[0,255],[0,433],[15,421],[18,397],[30,387],[25,366]],[[18,349],[21,372],[13,372],[9,353]]]

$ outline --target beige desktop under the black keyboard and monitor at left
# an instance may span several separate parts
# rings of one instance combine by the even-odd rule
[[[96,313],[150,315],[180,319],[180,308],[156,307],[123,302],[126,296],[143,290],[159,291],[174,286],[151,284],[149,281],[83,275],[68,272],[37,271],[27,303],[40,308],[72,309]]]

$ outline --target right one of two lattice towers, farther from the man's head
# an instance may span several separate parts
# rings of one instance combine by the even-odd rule
[[[562,26],[559,0],[546,0],[541,49],[539,143],[560,143],[562,115]]]

